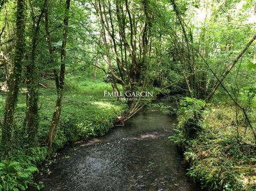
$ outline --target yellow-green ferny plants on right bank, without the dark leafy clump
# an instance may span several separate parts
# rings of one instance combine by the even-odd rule
[[[218,105],[201,115],[203,130],[197,137],[187,139],[180,129],[171,137],[185,150],[184,158],[191,165],[187,175],[208,190],[255,190],[255,143],[250,133],[236,137],[234,108]]]

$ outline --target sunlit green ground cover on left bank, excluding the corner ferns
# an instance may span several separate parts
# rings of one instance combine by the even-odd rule
[[[39,143],[44,143],[56,103],[54,83],[45,82],[48,88],[39,88]],[[115,99],[104,99],[104,91],[112,91],[111,84],[91,82],[72,77],[67,79],[61,120],[54,142],[57,150],[69,141],[78,141],[103,135],[113,126],[113,122],[125,111],[125,103]],[[25,118],[26,94],[21,90],[15,113],[16,128],[22,131]],[[0,111],[3,117],[5,94],[0,94]],[[1,133],[1,132],[0,132]]]

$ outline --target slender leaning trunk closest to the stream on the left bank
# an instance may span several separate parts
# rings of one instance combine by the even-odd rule
[[[65,16],[64,16],[64,29],[63,29],[63,41],[61,45],[61,53],[60,53],[60,77],[58,77],[55,73],[55,80],[56,80],[56,88],[57,88],[57,101],[55,106],[55,111],[53,112],[51,127],[48,131],[47,135],[47,146],[49,152],[52,152],[52,143],[55,138],[57,132],[57,126],[60,120],[61,114],[61,107],[62,107],[62,100],[63,100],[63,93],[64,93],[64,79],[65,79],[65,58],[66,58],[66,44],[68,39],[68,18],[69,18],[69,7],[70,1],[66,0],[66,9],[65,9]],[[56,70],[55,70],[56,71]]]

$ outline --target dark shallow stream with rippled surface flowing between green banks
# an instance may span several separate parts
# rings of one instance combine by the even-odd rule
[[[197,191],[173,142],[175,118],[146,108],[103,137],[61,151],[43,190]]]

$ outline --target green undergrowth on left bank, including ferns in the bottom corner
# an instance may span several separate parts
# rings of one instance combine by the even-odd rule
[[[40,188],[33,180],[34,172],[47,158],[44,146],[48,133],[53,109],[55,107],[56,92],[53,82],[47,82],[47,87],[40,88],[39,94],[39,147],[28,148],[29,140],[26,136],[15,137],[10,156],[0,162],[0,190],[26,190],[28,185]],[[53,150],[57,151],[68,142],[88,139],[104,135],[112,128],[114,121],[125,111],[125,103],[115,99],[104,99],[104,90],[112,91],[111,84],[104,82],[90,82],[81,77],[67,79],[60,125],[53,143]],[[1,116],[3,116],[5,94],[0,95]],[[23,134],[26,97],[22,93],[15,113],[16,134]],[[0,131],[1,133],[1,131]]]

